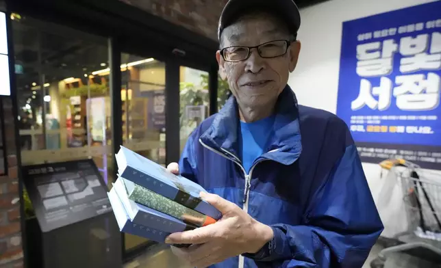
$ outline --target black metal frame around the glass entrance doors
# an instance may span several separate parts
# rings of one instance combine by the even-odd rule
[[[153,57],[164,62],[166,66],[166,163],[179,160],[179,66],[209,73],[210,114],[217,110],[218,64],[215,53],[218,42],[210,38],[117,0],[108,0],[106,5],[99,0],[6,0],[6,7],[8,14],[18,12],[40,21],[108,38],[113,155],[118,152],[120,144],[123,144],[121,52]],[[155,28],[151,25],[155,25]],[[11,34],[10,31],[8,38]],[[13,44],[12,37],[10,44]],[[12,66],[13,58],[10,57]],[[13,72],[12,76],[14,79]],[[15,92],[16,89],[13,88],[12,91]],[[16,98],[14,100],[16,101]],[[116,167],[114,157],[113,161]],[[21,165],[21,161],[19,162],[18,165]],[[23,245],[25,237],[23,232]],[[124,235],[121,234],[121,237],[123,261],[155,244],[147,243],[126,252]],[[25,249],[24,254],[26,263]]]

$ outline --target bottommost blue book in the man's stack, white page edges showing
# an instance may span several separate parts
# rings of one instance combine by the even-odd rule
[[[138,237],[144,237],[145,239],[149,239],[157,243],[164,243],[166,237],[171,234],[169,232],[164,232],[163,230],[157,230],[155,228],[142,226],[140,224],[134,224],[131,222],[130,217],[127,215],[115,189],[111,189],[108,192],[108,197],[116,218],[116,222],[118,223],[118,227],[121,232],[136,235]]]

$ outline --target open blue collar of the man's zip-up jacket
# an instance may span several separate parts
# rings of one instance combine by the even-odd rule
[[[273,135],[262,158],[290,165],[299,158],[302,146],[297,98],[289,85],[279,95],[275,113]],[[231,96],[214,116],[209,129],[201,135],[200,142],[231,160],[239,161],[239,124],[238,104]]]

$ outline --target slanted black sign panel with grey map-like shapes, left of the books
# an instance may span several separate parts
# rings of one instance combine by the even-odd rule
[[[23,167],[23,180],[42,232],[112,211],[91,159]]]

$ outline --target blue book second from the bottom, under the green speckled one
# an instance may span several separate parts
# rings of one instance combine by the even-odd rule
[[[138,226],[149,226],[165,232],[183,232],[197,228],[197,226],[186,224],[175,217],[171,217],[170,215],[156,211],[151,207],[137,204],[133,200],[130,200],[127,197],[122,178],[116,180],[112,189],[116,191],[121,204],[123,204],[125,212],[129,215],[130,221],[134,224],[138,224]]]

